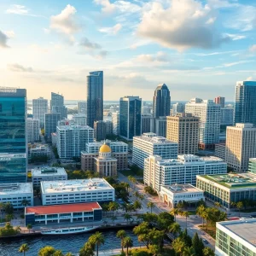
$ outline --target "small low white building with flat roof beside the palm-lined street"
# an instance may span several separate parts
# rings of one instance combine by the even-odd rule
[[[204,191],[191,184],[172,184],[160,187],[160,201],[168,207],[175,208],[180,201],[186,201],[189,205],[197,205],[199,201],[205,201]]]

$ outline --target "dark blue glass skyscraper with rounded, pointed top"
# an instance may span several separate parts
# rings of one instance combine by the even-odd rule
[[[170,114],[171,96],[166,84],[159,84],[154,90],[153,115],[154,118]]]

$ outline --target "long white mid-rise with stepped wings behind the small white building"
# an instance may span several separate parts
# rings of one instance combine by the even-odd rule
[[[162,159],[150,155],[144,163],[144,183],[160,191],[161,185],[196,183],[196,175],[227,173],[227,164],[217,157],[178,155],[177,159]]]

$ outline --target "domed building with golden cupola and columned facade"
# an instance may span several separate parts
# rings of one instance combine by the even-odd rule
[[[95,158],[95,171],[101,177],[117,176],[117,159],[112,157],[111,148],[104,143],[99,150],[99,156]]]

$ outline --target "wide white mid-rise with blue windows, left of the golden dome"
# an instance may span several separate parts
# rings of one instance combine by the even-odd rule
[[[86,143],[92,143],[94,139],[94,131],[89,126],[60,125],[56,134],[58,154],[63,160],[79,158]]]

